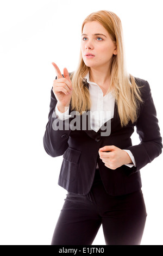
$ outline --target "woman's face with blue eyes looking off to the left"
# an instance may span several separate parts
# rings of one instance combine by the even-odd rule
[[[113,54],[117,54],[116,44],[97,21],[85,23],[81,50],[83,61],[90,68],[109,67]]]

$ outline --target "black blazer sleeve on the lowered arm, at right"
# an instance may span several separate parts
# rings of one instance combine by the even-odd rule
[[[140,115],[136,124],[136,132],[139,135],[140,144],[127,148],[135,158],[136,168],[133,168],[134,172],[152,162],[162,152],[162,138],[151,89],[149,83],[147,81],[144,82],[145,85],[141,88],[143,104],[140,107]]]

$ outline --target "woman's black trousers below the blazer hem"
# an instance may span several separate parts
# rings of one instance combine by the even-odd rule
[[[101,224],[106,245],[140,245],[146,216],[141,190],[110,196],[97,169],[89,194],[68,192],[51,245],[91,245]]]

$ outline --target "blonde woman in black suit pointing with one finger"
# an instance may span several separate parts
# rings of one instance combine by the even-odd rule
[[[52,157],[64,155],[58,184],[68,191],[52,245],[91,245],[101,224],[106,245],[140,245],[147,215],[140,169],[162,143],[148,82],[126,72],[118,16],[86,17],[76,72],[62,76],[52,64],[43,144]]]

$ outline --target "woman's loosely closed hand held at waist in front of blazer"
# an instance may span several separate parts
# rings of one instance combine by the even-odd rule
[[[98,153],[100,159],[105,163],[105,166],[112,170],[115,170],[123,164],[133,163],[126,151],[114,145],[105,146],[99,149]]]

